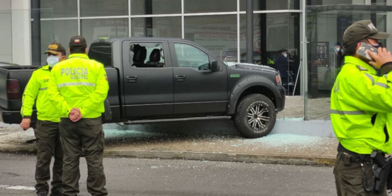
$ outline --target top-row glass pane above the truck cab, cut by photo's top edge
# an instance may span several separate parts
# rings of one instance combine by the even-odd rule
[[[131,14],[180,14],[181,0],[132,0]]]

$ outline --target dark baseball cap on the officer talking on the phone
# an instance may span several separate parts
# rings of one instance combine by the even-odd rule
[[[363,20],[348,26],[343,34],[343,46],[347,47],[365,38],[385,40],[389,33],[378,31],[370,20]]]

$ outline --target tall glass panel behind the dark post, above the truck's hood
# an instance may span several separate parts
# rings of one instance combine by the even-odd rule
[[[245,14],[240,16],[240,21],[240,61],[246,62]],[[299,67],[299,13],[253,14],[253,24],[253,63],[277,69],[286,95],[293,95]],[[297,84],[294,95],[299,93]]]

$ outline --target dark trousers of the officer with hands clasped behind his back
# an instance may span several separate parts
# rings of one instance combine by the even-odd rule
[[[60,141],[64,150],[63,195],[76,196],[79,193],[79,157],[83,149],[88,171],[87,191],[92,196],[106,196],[101,118],[82,118],[75,123],[68,118],[61,118]]]

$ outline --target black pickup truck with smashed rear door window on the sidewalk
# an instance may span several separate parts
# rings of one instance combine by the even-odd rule
[[[244,137],[256,138],[270,133],[284,108],[276,70],[222,62],[183,39],[100,39],[88,55],[103,63],[108,76],[104,123],[232,119]],[[21,122],[21,97],[34,69],[0,67],[0,121]]]

